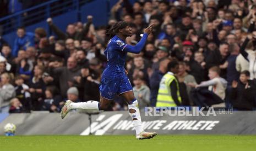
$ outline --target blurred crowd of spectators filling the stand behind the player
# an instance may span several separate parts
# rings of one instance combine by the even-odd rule
[[[117,21],[130,24],[139,42],[144,28],[154,23],[140,54],[129,54],[128,77],[141,109],[156,106],[163,75],[171,61],[178,61],[181,106],[212,106],[255,110],[256,107],[256,2],[239,1],[118,1],[106,26],[87,22],[59,30],[46,21],[55,36],[38,27],[34,32],[17,29],[13,48],[1,39],[0,108],[2,112],[59,112],[64,101],[99,101],[101,74],[111,39],[106,31]],[[256,30],[256,29],[255,29]],[[214,102],[204,89],[224,103]],[[206,98],[206,99],[205,99]],[[208,103],[207,100],[212,102]],[[108,111],[126,110],[116,96]]]

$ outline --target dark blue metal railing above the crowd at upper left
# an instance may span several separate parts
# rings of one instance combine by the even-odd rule
[[[17,30],[20,26],[36,24],[47,18],[52,18],[68,11],[77,11],[78,21],[80,21],[80,5],[93,0],[51,0],[34,7],[18,11],[17,13],[0,18],[1,34],[6,34]]]

